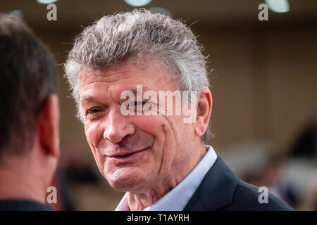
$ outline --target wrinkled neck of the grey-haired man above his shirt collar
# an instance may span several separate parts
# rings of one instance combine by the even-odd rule
[[[192,169],[194,169],[194,167],[197,166],[205,154],[206,148],[202,147],[199,152],[194,153],[195,156],[193,156],[190,162],[187,163],[187,167],[171,167],[169,171],[170,176],[164,177],[159,182],[156,182],[156,186],[145,188],[137,193],[128,192],[128,205],[130,210],[141,211],[159,201],[164,195],[185,179],[185,177],[192,171]],[[184,164],[185,163],[182,163],[182,165]]]

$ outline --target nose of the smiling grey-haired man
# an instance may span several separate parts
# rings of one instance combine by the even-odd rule
[[[104,139],[119,143],[125,136],[132,134],[135,134],[135,125],[128,120],[128,116],[122,115],[120,110],[111,110],[104,127]]]

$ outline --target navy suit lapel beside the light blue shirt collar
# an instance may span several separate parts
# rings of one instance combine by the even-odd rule
[[[218,156],[184,210],[219,210],[232,203],[238,178]]]

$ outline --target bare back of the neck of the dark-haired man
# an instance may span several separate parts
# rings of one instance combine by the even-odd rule
[[[44,184],[32,163],[14,159],[10,165],[0,166],[0,199],[23,198],[44,203]],[[23,162],[21,162],[23,161]]]

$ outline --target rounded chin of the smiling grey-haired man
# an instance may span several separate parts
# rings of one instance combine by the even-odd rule
[[[108,174],[105,178],[116,191],[137,191],[144,185],[146,174],[140,168],[124,167],[116,169],[115,172]]]

